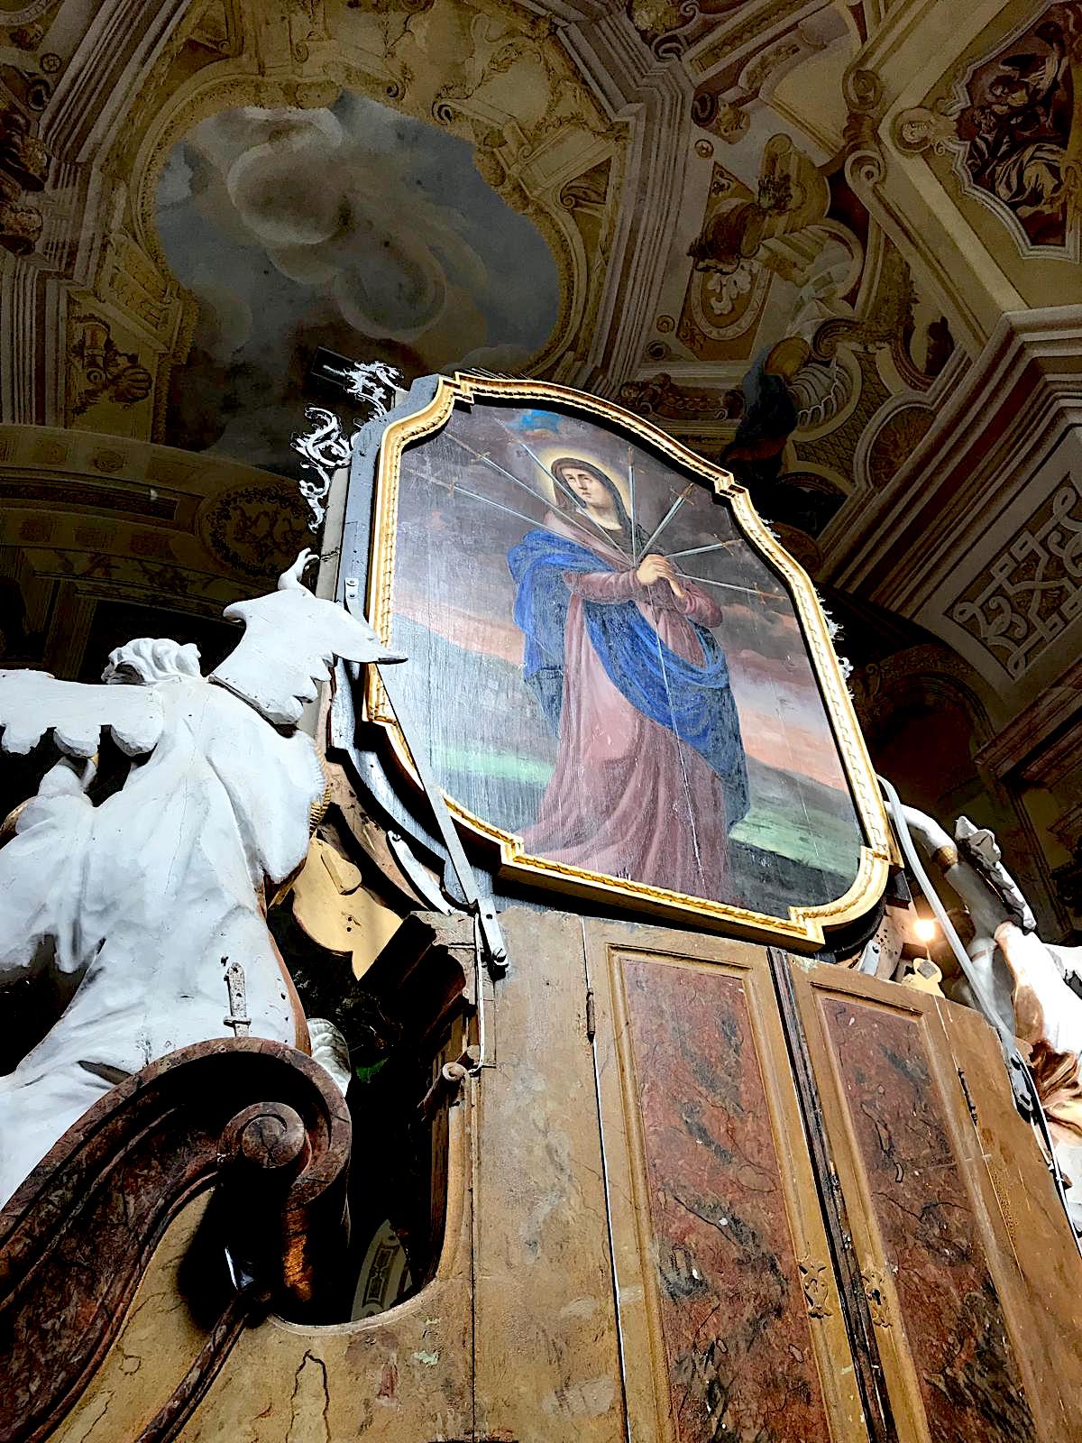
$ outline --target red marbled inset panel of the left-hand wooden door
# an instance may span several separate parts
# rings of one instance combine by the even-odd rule
[[[812,1354],[744,988],[623,964],[679,1443],[819,1443]]]

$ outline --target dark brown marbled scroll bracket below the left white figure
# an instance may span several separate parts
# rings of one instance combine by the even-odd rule
[[[317,1309],[340,1271],[349,1146],[327,1074],[276,1042],[198,1043],[108,1092],[0,1212],[0,1440],[36,1443],[69,1411],[169,1222],[214,1182],[244,1273],[278,1306]],[[189,1375],[182,1404],[211,1377]]]

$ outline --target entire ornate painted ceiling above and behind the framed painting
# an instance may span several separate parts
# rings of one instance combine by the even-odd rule
[[[866,680],[933,654],[987,740],[1078,658],[1052,550],[1026,675],[952,616],[1070,469],[1013,437],[1075,394],[1079,55],[1082,0],[0,0],[0,631],[78,674],[98,603],[206,619],[268,574],[323,345],[669,430]],[[985,494],[1019,509],[978,561]]]

